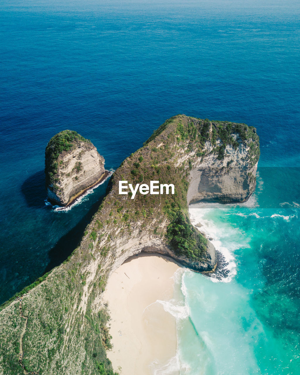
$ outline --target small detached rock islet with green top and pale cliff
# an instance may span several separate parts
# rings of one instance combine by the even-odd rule
[[[48,198],[65,206],[104,174],[104,158],[77,132],[64,130],[50,139],[45,152]]]

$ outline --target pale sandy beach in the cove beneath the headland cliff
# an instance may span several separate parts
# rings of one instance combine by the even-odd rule
[[[121,375],[155,374],[174,361],[175,318],[156,301],[172,298],[178,268],[168,258],[144,253],[131,257],[110,276],[104,301],[111,316],[113,349],[107,354]]]

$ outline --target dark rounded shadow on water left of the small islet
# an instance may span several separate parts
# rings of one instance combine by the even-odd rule
[[[39,171],[28,177],[22,184],[21,191],[29,207],[45,207],[45,172]]]

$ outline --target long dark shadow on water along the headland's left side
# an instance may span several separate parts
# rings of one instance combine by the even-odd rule
[[[54,267],[62,264],[69,255],[75,250],[77,245],[80,243],[84,229],[92,220],[92,217],[97,212],[99,205],[102,202],[105,194],[102,195],[97,202],[92,205],[89,212],[80,220],[80,222],[74,226],[65,236],[58,240],[57,244],[52,248],[48,255],[50,261],[44,271],[44,273],[51,271]]]

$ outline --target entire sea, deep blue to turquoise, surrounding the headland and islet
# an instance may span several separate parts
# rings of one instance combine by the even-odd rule
[[[55,133],[90,138],[116,169],[172,115],[247,123],[261,142],[255,194],[190,207],[231,273],[223,282],[183,273],[175,367],[300,374],[299,2],[2,0],[0,9],[0,303],[71,254],[105,194],[107,183],[69,211],[45,205]]]

